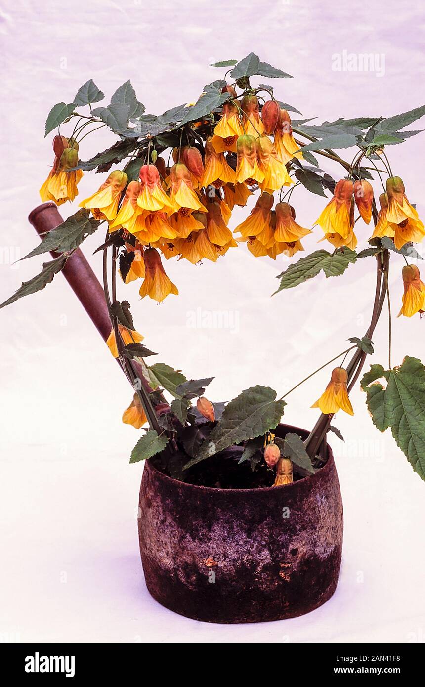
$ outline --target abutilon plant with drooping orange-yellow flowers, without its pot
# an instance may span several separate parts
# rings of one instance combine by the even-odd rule
[[[372,337],[387,304],[388,365],[371,365],[361,387],[376,427],[391,427],[413,469],[425,479],[425,369],[409,356],[400,365],[391,364],[389,290],[391,254],[391,260],[405,262],[395,286],[402,302],[399,315],[406,318],[399,322],[409,327],[409,318],[422,317],[425,285],[411,260],[421,259],[413,244],[422,244],[425,228],[415,204],[407,199],[404,182],[393,174],[388,155],[389,146],[420,133],[404,129],[425,114],[425,106],[389,118],[339,117],[314,124],[295,119],[301,113],[277,100],[273,87],[255,85],[256,78],[289,75],[260,63],[254,54],[211,67],[229,69],[223,78],[207,84],[194,104],[162,115],[145,113],[129,81],[115,91],[111,104],[98,105],[104,93],[90,79],[73,102],[54,105],[45,128],[46,136],[55,132],[54,161],[41,186],[41,199],[56,205],[72,202],[84,172],[95,170],[103,176],[100,186],[93,183],[93,193],[79,203],[80,210],[25,256],[54,251],[54,260],[1,307],[43,289],[84,238],[103,225],[105,238],[98,250],[111,318],[106,343],[133,386],[133,400],[122,420],[146,432],[131,462],[157,460],[165,473],[189,480],[194,479],[195,464],[205,460],[214,466],[217,455],[236,446],[240,471],[251,465],[263,486],[284,488],[323,466],[334,414],[340,409],[354,414],[349,393],[367,355],[374,353]],[[68,95],[64,100],[69,102]],[[82,113],[84,107],[89,111]],[[85,137],[105,127],[115,136],[111,147],[80,159],[86,157]],[[350,149],[351,159],[341,157]],[[321,170],[318,156],[323,165],[338,166],[335,179]],[[315,223],[303,210],[302,194],[307,192],[326,198]],[[232,221],[235,207],[247,208],[238,223]],[[321,247],[298,259],[299,252],[306,252],[305,239],[326,242],[321,245],[329,250]],[[161,303],[179,294],[176,264],[216,263],[223,256],[231,260],[230,249],[240,245],[256,258],[290,261],[278,275],[275,293],[321,272],[336,278],[359,261],[376,265],[367,330],[349,337],[348,348],[306,376],[310,379],[336,364],[312,405],[321,415],[308,438],[299,438],[296,450],[293,439],[279,440],[272,431],[284,413],[284,399],[305,380],[283,390],[279,398],[269,387],[256,385],[227,404],[212,403],[205,388],[214,378],[187,379],[164,363],[148,364],[147,359],[156,355],[142,343],[149,323],[143,319],[141,335],[130,304],[117,297],[119,273],[124,284],[140,280],[142,299],[148,296]],[[196,278],[202,278],[199,270]],[[143,311],[143,301],[139,308]]]

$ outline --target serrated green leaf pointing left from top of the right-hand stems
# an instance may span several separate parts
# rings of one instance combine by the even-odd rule
[[[337,277],[345,272],[351,262],[357,258],[355,251],[349,248],[344,248],[342,251],[337,251],[333,255],[328,251],[320,250],[314,251],[306,258],[301,258],[295,264],[291,264],[281,274],[277,275],[280,279],[280,286],[275,293],[279,293],[282,289],[291,289],[292,286],[298,286],[308,279],[315,277],[323,269],[325,276]],[[274,295],[274,294],[273,294]]]

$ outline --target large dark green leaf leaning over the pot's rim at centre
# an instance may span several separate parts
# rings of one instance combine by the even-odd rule
[[[285,401],[276,401],[276,392],[269,387],[250,387],[234,398],[226,407],[209,438],[187,467],[210,455],[219,453],[232,444],[255,439],[274,429],[284,413]]]

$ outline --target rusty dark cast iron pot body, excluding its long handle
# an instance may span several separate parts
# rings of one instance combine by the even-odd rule
[[[279,425],[306,438],[298,427]],[[205,622],[309,613],[334,594],[343,504],[334,457],[285,486],[220,489],[173,480],[146,461],[139,497],[141,562],[161,605]]]

